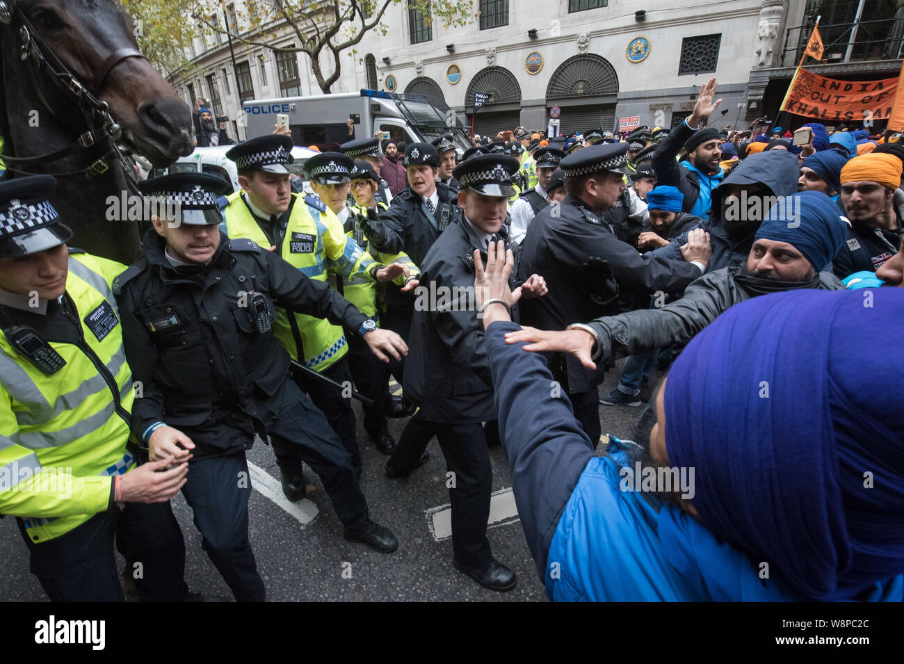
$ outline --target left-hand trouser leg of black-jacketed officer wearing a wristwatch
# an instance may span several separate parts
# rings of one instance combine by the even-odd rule
[[[251,481],[245,453],[193,460],[182,488],[201,546],[239,602],[263,602],[264,581],[248,538]]]

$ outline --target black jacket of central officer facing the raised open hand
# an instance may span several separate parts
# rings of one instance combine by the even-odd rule
[[[496,418],[484,328],[473,297],[475,249],[485,261],[481,240],[463,219],[446,229],[420,266],[402,387],[433,422]]]

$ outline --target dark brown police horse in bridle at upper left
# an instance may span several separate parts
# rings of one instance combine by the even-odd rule
[[[135,222],[107,200],[137,193],[128,152],[155,166],[193,150],[188,107],[137,50],[113,0],[0,0],[0,136],[9,175],[50,173],[71,244],[128,263]]]

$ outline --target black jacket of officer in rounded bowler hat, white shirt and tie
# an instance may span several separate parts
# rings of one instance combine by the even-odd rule
[[[378,251],[385,254],[404,251],[420,267],[442,232],[440,229],[461,219],[456,194],[456,190],[437,182],[439,202],[431,215],[419,194],[406,187],[392,199],[389,210],[381,212],[378,220],[365,223],[364,233]],[[402,293],[398,285],[386,285],[386,308],[391,316],[407,317],[413,304],[410,293]]]

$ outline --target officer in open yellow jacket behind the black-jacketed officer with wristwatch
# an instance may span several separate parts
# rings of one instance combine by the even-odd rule
[[[342,223],[322,200],[289,191],[287,166],[293,161],[291,149],[292,139],[288,136],[259,136],[226,153],[236,163],[242,187],[241,192],[227,198],[223,210],[226,234],[230,238],[251,239],[262,248],[273,247],[278,256],[318,281],[326,281],[328,268],[356,279],[388,281],[400,275],[404,271],[402,266],[381,266],[353,238],[346,236]],[[313,166],[307,165],[306,170],[312,178],[319,174],[313,172]],[[344,175],[348,177],[347,171]],[[330,195],[335,193],[330,186],[324,185],[322,195],[327,191]],[[278,341],[293,360],[336,383],[352,383],[351,371],[344,360],[348,343],[341,325],[304,313],[280,311],[274,327]],[[307,374],[296,370],[293,375],[315,405],[324,411],[330,426],[352,454],[353,465],[360,474],[361,454],[350,399],[344,398],[341,390],[324,388]],[[274,453],[286,497],[303,498],[306,484],[301,463],[279,444],[274,445]]]

